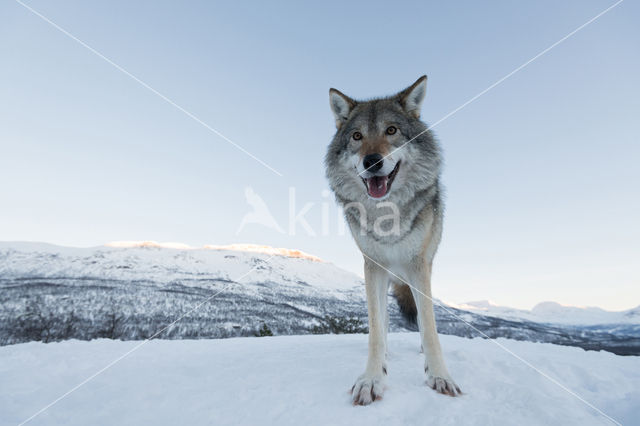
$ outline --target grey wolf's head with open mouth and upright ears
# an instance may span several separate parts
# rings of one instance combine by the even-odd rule
[[[420,121],[426,89],[422,76],[394,96],[364,102],[329,90],[337,131],[325,163],[339,200],[402,204],[437,181],[439,148]]]

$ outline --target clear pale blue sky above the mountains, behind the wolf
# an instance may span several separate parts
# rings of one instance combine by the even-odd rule
[[[320,229],[328,89],[428,74],[435,122],[612,1],[0,3],[0,240],[298,248],[360,272],[349,235],[236,230],[289,187]],[[447,214],[435,295],[530,308],[640,304],[640,6],[625,1],[435,128]]]

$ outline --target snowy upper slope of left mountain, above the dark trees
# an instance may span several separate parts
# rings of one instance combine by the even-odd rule
[[[362,285],[362,279],[355,274],[297,250],[256,245],[185,249],[178,243],[167,246],[154,242],[125,243],[73,248],[46,243],[0,242],[0,277],[100,277],[156,283],[223,278],[255,283],[268,282],[276,274],[294,286],[305,282],[314,287],[349,291]]]

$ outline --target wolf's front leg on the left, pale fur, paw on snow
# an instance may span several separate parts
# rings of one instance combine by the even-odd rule
[[[382,398],[386,353],[386,300],[389,277],[387,272],[375,263],[365,259],[364,280],[367,290],[369,311],[369,358],[364,373],[351,388],[354,404],[367,405]]]

